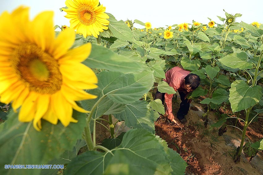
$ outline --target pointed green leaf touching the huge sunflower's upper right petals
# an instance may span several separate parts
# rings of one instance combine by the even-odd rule
[[[143,70],[137,62],[98,45],[92,45],[91,54],[83,64],[93,69],[107,69],[124,73]]]

